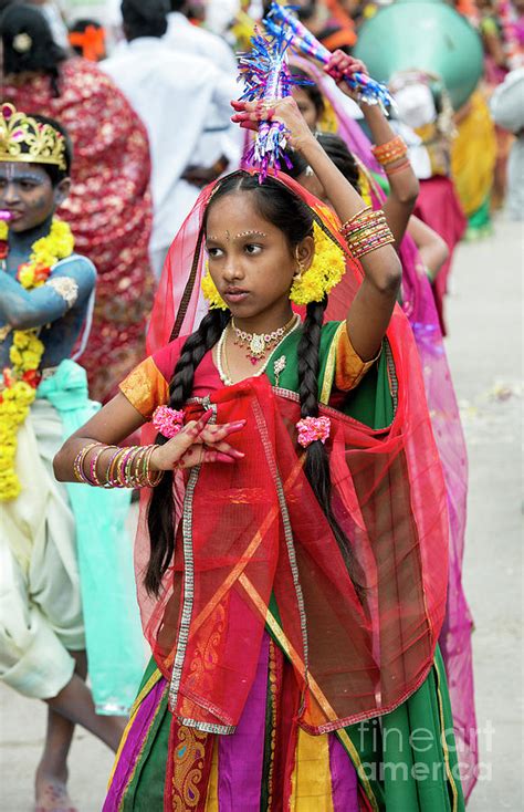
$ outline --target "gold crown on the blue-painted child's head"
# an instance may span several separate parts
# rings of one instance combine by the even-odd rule
[[[12,104],[0,110],[0,162],[53,164],[66,169],[65,138],[62,133],[17,111]]]

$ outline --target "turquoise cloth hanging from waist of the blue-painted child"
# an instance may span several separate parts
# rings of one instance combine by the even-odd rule
[[[64,440],[99,409],[88,398],[85,369],[69,358],[40,384],[36,396],[60,414]],[[75,518],[93,699],[98,714],[127,715],[144,665],[133,543],[125,529],[130,491],[74,482],[66,488]]]

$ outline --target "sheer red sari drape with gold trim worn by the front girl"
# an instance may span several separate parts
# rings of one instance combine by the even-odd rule
[[[333,214],[298,184],[280,180],[338,241]],[[150,350],[166,339],[168,324],[198,317],[197,236],[210,194],[202,192],[169,252]],[[177,279],[181,268],[186,284]],[[356,290],[358,269],[348,263],[348,273]],[[245,458],[202,466],[186,479],[177,475],[172,566],[158,601],[139,590],[147,637],[171,684],[170,708],[184,723],[234,730],[266,623],[293,663],[300,723],[310,732],[386,714],[426,678],[446,611],[447,493],[417,347],[399,309],[387,337],[391,425],[375,430],[321,409],[332,425],[333,506],[350,542],[352,575],[303,471],[296,394],[272,388],[265,377],[211,393],[218,423],[247,418],[235,437]],[[287,366],[295,363],[290,355]],[[188,419],[209,403],[190,404]],[[147,502],[144,493],[139,583],[150,549]]]

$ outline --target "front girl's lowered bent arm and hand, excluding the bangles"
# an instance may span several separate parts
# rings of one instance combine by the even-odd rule
[[[163,446],[156,446],[149,460],[150,470],[155,472],[175,467],[191,468],[202,462],[231,464],[243,457],[224,438],[240,431],[245,421],[208,426],[209,416],[210,413],[198,423],[191,420],[176,437]],[[119,393],[64,443],[53,460],[56,479],[61,482],[75,482],[74,461],[77,455],[91,443],[96,443],[106,448],[101,450],[98,446],[86,454],[84,471],[88,475],[90,466],[98,454],[97,475],[101,481],[107,481],[105,472],[115,455],[115,447],[144,423],[140,413]]]

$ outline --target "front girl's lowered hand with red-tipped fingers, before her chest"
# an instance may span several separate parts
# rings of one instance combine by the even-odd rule
[[[202,462],[232,464],[244,456],[242,451],[226,443],[226,437],[240,431],[245,420],[209,426],[212,412],[206,412],[196,421],[190,420],[176,437],[164,446],[158,446],[151,455],[150,467],[154,471],[193,468]]]

